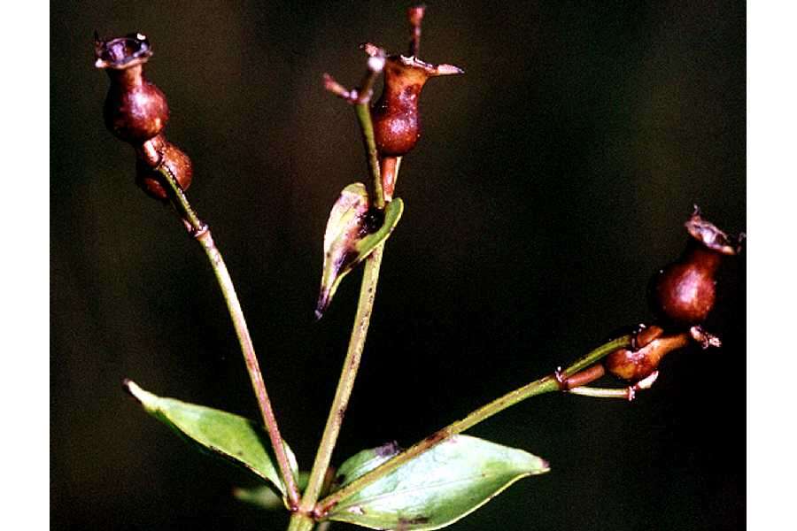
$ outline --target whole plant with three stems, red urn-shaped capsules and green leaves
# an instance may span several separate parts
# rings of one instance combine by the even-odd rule
[[[366,73],[357,87],[346,89],[329,74],[323,78],[330,93],[354,108],[369,180],[343,189],[329,214],[323,238],[317,318],[329,308],[347,273],[360,265],[364,271],[343,370],[309,473],[298,466],[280,435],[227,267],[210,228],[185,195],[192,165],[188,155],[166,139],[166,96],[144,73],[152,56],[151,44],[142,34],[95,39],[97,68],[104,69],[111,81],[104,104],[105,125],[133,146],[137,185],[148,196],[174,207],[190,236],[205,250],[228,305],[262,424],[156,396],[133,381],[125,381],[124,387],[147,412],[185,439],[262,481],[263,487],[237,489],[236,496],[264,508],[284,506],[290,512],[292,530],[326,527],[330,521],[407,530],[452,524],[515,481],[550,470],[546,459],[525,450],[463,435],[468,428],[543,393],[633,400],[636,393],[653,385],[660,362],[669,352],[691,343],[704,349],[720,346],[719,339],[702,324],[716,304],[717,268],[723,258],[739,253],[740,239],[726,235],[695,209],[685,223],[689,239],[684,254],[657,273],[648,289],[654,322],[601,344],[566,368],[557,368],[500,396],[407,449],[389,443],[362,450],[335,468],[330,466],[366,342],[385,243],[404,210],[402,200],[394,195],[402,158],[421,136],[422,89],[432,77],[463,73],[457,66],[432,65],[419,58],[423,15],[422,6],[408,10],[412,32],[407,56],[389,54],[367,43],[362,46],[368,56]],[[383,92],[375,99],[373,87],[382,74]],[[606,373],[625,384],[590,387]]]

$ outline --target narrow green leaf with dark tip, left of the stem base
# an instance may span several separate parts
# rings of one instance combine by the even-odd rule
[[[174,429],[198,450],[242,466],[259,479],[270,481],[282,495],[285,494],[265,428],[233,413],[155,396],[138,387],[134,381],[126,380],[125,389],[146,412]],[[296,458],[287,443],[285,452],[296,476]]]

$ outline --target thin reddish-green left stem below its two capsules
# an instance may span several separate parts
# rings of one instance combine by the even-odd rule
[[[207,256],[213,268],[213,273],[216,275],[216,281],[219,282],[221,293],[227,303],[229,317],[232,319],[233,327],[236,329],[238,342],[241,345],[241,352],[244,354],[246,371],[249,373],[251,387],[254,389],[255,396],[257,397],[260,413],[263,416],[271,445],[274,448],[280,473],[282,473],[282,481],[285,484],[288,503],[291,507],[298,507],[300,500],[296,480],[293,477],[293,473],[290,471],[288,454],[285,452],[274,410],[271,407],[271,401],[268,399],[268,393],[266,392],[266,384],[263,381],[262,373],[260,373],[258,358],[255,355],[254,345],[251,342],[249,328],[246,327],[244,311],[241,309],[241,304],[238,302],[236,289],[229,276],[227,266],[224,264],[224,259],[221,258],[221,252],[219,252],[215,242],[213,242],[213,235],[211,235],[210,228],[203,223],[193,211],[185,193],[182,191],[177,181],[174,180],[174,176],[169,173],[163,165],[159,167],[159,172],[163,176],[161,181],[165,181],[168,186],[168,191],[171,192],[169,195],[171,196],[172,204],[174,204],[174,207],[180,213],[183,222],[189,227],[190,234],[202,245],[202,249],[205,250],[205,256]]]

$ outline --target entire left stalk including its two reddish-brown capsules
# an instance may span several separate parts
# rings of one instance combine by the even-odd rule
[[[147,80],[143,72],[143,66],[151,57],[152,49],[146,35],[139,33],[101,40],[95,33],[95,66],[105,70],[111,80],[103,109],[105,126],[117,138],[133,146],[138,185],[148,196],[171,203],[189,234],[205,250],[241,345],[246,370],[282,475],[285,496],[290,507],[297,507],[299,492],[296,479],[290,469],[236,289],[210,229],[199,219],[185,196],[184,190],[189,187],[193,174],[190,158],[168,142],[163,134],[169,119],[166,95]]]

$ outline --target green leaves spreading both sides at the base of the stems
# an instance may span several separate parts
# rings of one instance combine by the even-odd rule
[[[253,473],[277,489],[284,500],[285,488],[262,427],[232,413],[155,396],[133,381],[125,381],[125,388],[147,412],[190,443]],[[285,450],[301,485],[302,474],[298,473],[293,452],[287,444]],[[398,453],[394,443],[360,451],[338,468],[329,493]],[[548,470],[544,459],[523,450],[468,435],[454,435],[345,497],[322,519],[374,529],[437,529],[476,511],[515,481]],[[262,488],[238,489],[236,496],[264,506],[273,507],[275,501]]]

